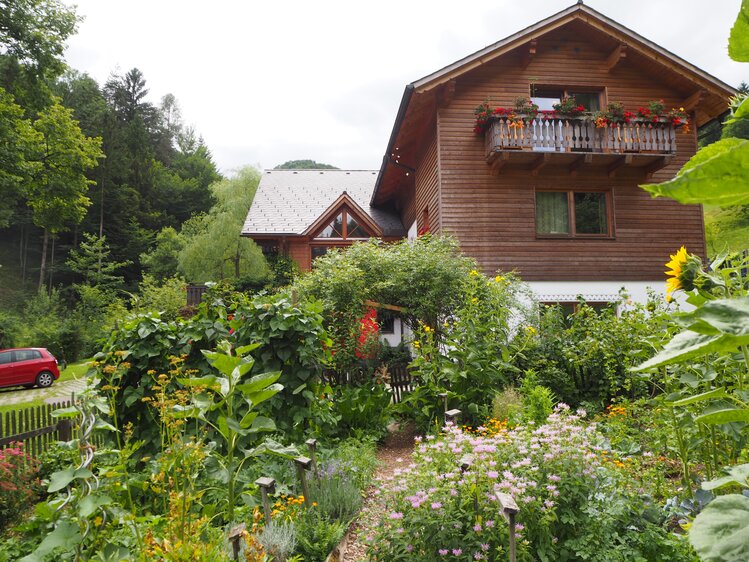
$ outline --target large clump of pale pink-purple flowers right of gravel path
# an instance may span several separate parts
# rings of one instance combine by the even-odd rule
[[[447,426],[428,436],[395,473],[371,559],[504,559],[509,530],[496,499],[504,492],[520,508],[520,560],[693,560],[684,540],[650,522],[653,510],[604,460],[610,453],[582,415],[560,405],[539,427],[481,435]]]

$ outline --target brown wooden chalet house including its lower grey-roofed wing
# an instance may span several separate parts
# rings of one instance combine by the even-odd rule
[[[307,269],[330,245],[449,233],[542,302],[643,300],[669,253],[706,248],[700,206],[638,185],[673,177],[735,93],[578,3],[406,86],[379,173],[264,174],[242,234]]]

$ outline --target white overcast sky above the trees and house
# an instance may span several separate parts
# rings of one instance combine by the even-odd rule
[[[377,169],[403,88],[573,0],[65,0],[85,19],[67,61],[103,83],[139,68],[172,93],[224,173],[311,158]],[[736,86],[739,0],[586,4]]]

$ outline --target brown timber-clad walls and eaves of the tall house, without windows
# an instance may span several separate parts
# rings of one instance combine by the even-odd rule
[[[733,90],[626,32],[579,5],[409,85],[373,204],[394,204],[406,228],[416,221],[419,231],[457,237],[486,273],[517,270],[528,281],[656,280],[681,245],[704,256],[701,207],[653,199],[638,186],[673,177],[697,149],[696,125],[723,113]],[[570,141],[574,123],[561,121],[549,134],[539,119],[544,138],[528,123],[515,145],[506,120],[474,133],[479,104],[512,107],[540,88],[595,92],[602,108],[622,102],[630,111],[663,100],[684,107],[691,128],[590,129],[587,144]],[[605,193],[607,235],[537,234],[539,191]]]

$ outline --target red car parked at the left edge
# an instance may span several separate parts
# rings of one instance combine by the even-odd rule
[[[57,359],[41,347],[0,350],[0,387],[50,386],[60,378]]]

